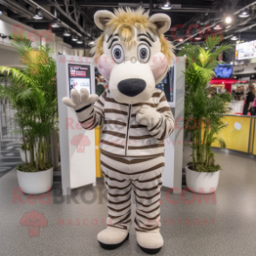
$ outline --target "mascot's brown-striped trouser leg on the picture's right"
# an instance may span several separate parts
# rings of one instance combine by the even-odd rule
[[[159,232],[159,199],[164,166],[164,156],[131,160],[130,175],[137,205],[134,224],[138,232]]]

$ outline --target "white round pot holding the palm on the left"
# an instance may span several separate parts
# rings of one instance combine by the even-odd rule
[[[27,194],[40,194],[51,190],[53,167],[40,172],[20,172],[17,170],[17,181]]]

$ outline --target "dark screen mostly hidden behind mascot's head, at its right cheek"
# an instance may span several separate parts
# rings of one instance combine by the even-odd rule
[[[156,85],[156,88],[165,92],[168,102],[173,102],[174,67],[170,68],[164,79]]]

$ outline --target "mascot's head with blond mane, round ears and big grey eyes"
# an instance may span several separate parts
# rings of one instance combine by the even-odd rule
[[[98,10],[95,24],[103,34],[91,49],[98,71],[109,81],[119,103],[137,104],[152,97],[155,85],[172,65],[173,46],[165,40],[171,18],[149,17],[143,9]]]

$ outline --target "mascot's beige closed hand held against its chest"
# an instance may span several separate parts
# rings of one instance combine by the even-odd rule
[[[136,115],[136,121],[140,125],[153,127],[158,124],[161,119],[161,114],[148,105],[143,105]]]

